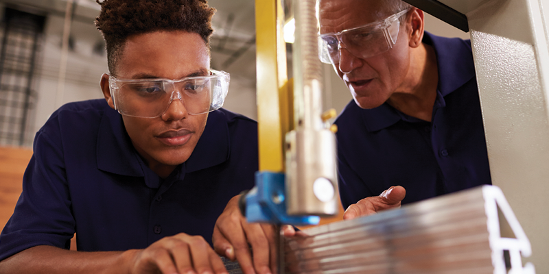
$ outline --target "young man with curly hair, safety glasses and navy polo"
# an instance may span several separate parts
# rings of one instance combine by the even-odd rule
[[[210,69],[215,10],[100,5],[105,100],[64,105],[36,134],[0,273],[226,273],[209,239],[229,199],[253,187],[257,125],[219,109],[229,75]]]

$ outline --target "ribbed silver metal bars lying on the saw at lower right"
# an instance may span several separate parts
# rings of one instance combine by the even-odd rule
[[[516,239],[500,238],[498,208]],[[495,186],[313,227],[283,242],[284,273],[507,273],[504,250],[512,273],[535,273],[522,266],[530,242]]]

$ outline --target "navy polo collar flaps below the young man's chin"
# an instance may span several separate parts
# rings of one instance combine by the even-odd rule
[[[183,177],[185,173],[225,162],[229,159],[229,144],[229,127],[224,114],[220,111],[211,112],[193,153],[174,173],[178,173],[177,177]],[[115,110],[106,110],[102,117],[97,136],[97,169],[134,177],[145,177],[143,169],[148,169],[139,159],[121,115]]]

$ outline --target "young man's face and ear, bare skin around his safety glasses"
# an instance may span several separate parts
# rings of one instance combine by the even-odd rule
[[[207,76],[209,67],[209,51],[200,35],[152,32],[128,38],[116,76],[119,79],[180,79]],[[106,98],[113,108],[110,95]],[[174,99],[166,112],[156,118],[122,115],[135,149],[161,177],[167,177],[178,164],[189,159],[204,132],[207,118],[207,113],[189,115],[180,99]]]

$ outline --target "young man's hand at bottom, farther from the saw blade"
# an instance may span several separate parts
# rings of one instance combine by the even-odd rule
[[[221,258],[201,236],[181,233],[133,253],[132,274],[227,274]]]

